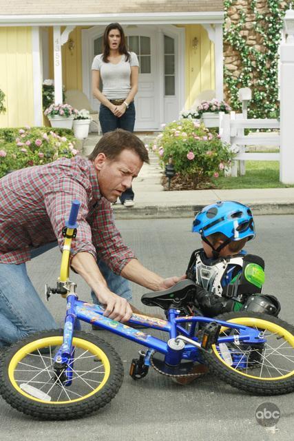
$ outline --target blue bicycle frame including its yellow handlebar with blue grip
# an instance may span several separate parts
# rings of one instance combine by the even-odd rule
[[[75,205],[74,205],[75,204]],[[54,365],[60,368],[66,367],[67,374],[66,384],[70,385],[72,378],[72,363],[74,359],[74,347],[72,347],[72,338],[74,336],[74,329],[81,329],[79,320],[96,325],[116,334],[120,337],[127,338],[133,342],[143,345],[148,348],[145,356],[145,365],[150,365],[150,357],[153,351],[158,351],[165,355],[165,362],[169,366],[179,365],[182,359],[190,360],[192,362],[201,362],[201,342],[195,336],[196,326],[198,324],[209,324],[210,322],[217,322],[225,328],[237,329],[240,334],[238,336],[223,336],[218,338],[218,344],[235,342],[237,345],[240,342],[244,343],[259,343],[264,342],[260,336],[260,331],[244,325],[236,323],[224,322],[216,320],[216,318],[208,318],[202,316],[180,316],[180,311],[171,307],[168,311],[167,320],[158,318],[151,318],[140,314],[133,314],[132,318],[127,323],[118,322],[104,316],[104,309],[99,305],[78,300],[75,293],[76,285],[69,280],[69,259],[70,259],[70,244],[72,237],[76,232],[76,216],[78,214],[78,201],[74,201],[70,219],[66,223],[65,245],[63,247],[63,257],[61,260],[61,275],[57,285],[61,289],[67,291],[67,294],[59,293],[66,296],[67,307],[65,314],[65,326],[63,331],[63,344],[54,356]],[[74,212],[72,214],[72,212]],[[161,340],[149,334],[145,334],[138,329],[134,329],[132,324],[143,325],[151,329],[159,329],[169,334],[167,341]],[[189,330],[182,325],[190,324]],[[131,326],[129,326],[131,325]],[[169,342],[174,340],[182,340],[185,344],[180,348],[175,349]]]

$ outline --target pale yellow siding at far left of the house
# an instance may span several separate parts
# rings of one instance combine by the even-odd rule
[[[34,124],[31,28],[0,28],[0,89],[6,94],[6,114],[0,127]]]

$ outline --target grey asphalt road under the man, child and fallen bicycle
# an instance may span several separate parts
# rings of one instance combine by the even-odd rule
[[[200,245],[198,235],[191,234],[190,219],[120,220],[117,223],[126,243],[140,261],[162,276],[183,274],[193,249]],[[258,236],[247,250],[266,261],[264,293],[280,298],[280,316],[294,323],[293,250],[294,216],[260,216],[256,218]],[[28,271],[36,289],[43,296],[43,285],[54,286],[59,271],[58,249],[34,258]],[[78,294],[90,298],[89,290],[78,276]],[[134,304],[140,305],[145,289],[134,285]],[[65,311],[62,298],[52,298],[48,307],[62,324]],[[160,312],[154,309],[155,312]],[[83,329],[93,332],[90,325]],[[211,375],[188,386],[174,384],[165,376],[149,371],[146,378],[134,382],[128,375],[129,365],[140,347],[106,331],[96,331],[120,354],[125,379],[118,395],[101,411],[82,420],[40,422],[12,409],[0,398],[0,440],[293,440],[293,393],[286,396],[255,397],[233,389]],[[281,418],[276,433],[268,433],[255,420],[255,409],[262,402],[273,402]],[[274,438],[273,438],[274,437]]]

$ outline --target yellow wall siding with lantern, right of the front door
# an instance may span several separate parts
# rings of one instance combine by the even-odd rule
[[[189,109],[200,92],[215,88],[214,80],[214,45],[209,40],[207,31],[201,25],[185,25],[185,108]],[[194,38],[198,46],[192,48]]]

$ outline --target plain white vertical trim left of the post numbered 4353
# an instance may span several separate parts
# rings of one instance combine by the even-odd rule
[[[42,117],[42,70],[39,26],[32,28],[32,77],[34,88],[34,125],[43,125]]]

